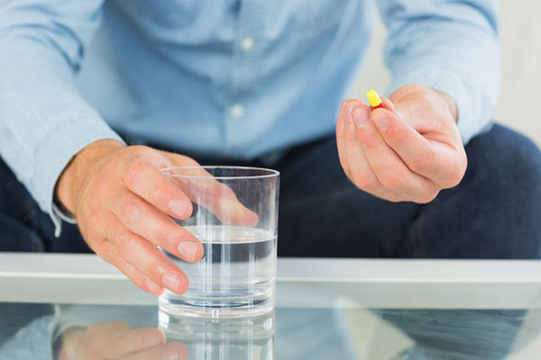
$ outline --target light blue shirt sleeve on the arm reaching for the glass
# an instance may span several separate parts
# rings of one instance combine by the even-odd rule
[[[53,205],[64,167],[98,139],[124,143],[74,83],[85,46],[99,24],[102,3],[0,4],[0,155],[41,210],[50,214],[57,237],[60,219],[69,220]]]

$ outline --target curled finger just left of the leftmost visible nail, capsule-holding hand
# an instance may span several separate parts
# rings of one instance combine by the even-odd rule
[[[351,112],[359,105],[362,105],[362,103],[348,103],[345,109],[348,115],[346,118],[346,123],[344,124],[344,143],[346,157],[348,158],[347,161],[350,164],[353,184],[356,184],[359,188],[367,193],[371,193],[392,202],[398,202],[401,200],[399,195],[390,192],[381,185],[380,181],[372,170],[370,163],[364,156],[359,139],[357,139],[357,129],[353,123]]]

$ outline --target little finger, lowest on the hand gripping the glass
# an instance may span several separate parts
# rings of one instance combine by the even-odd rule
[[[109,240],[104,239],[102,246],[94,251],[98,257],[104,258],[109,264],[115,266],[143,291],[157,296],[163,293],[163,286],[156,284],[149,276],[142,274],[135,266],[117,255],[115,246]]]

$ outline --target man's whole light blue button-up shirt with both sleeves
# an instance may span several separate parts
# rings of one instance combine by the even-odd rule
[[[330,135],[376,3],[388,93],[436,88],[457,103],[464,143],[487,129],[494,1],[0,0],[0,154],[59,235],[61,171],[115,130],[239,159]]]

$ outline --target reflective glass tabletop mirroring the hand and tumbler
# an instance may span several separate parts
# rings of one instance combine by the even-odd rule
[[[155,306],[0,303],[0,359],[515,359],[541,311],[278,308],[237,320]]]

